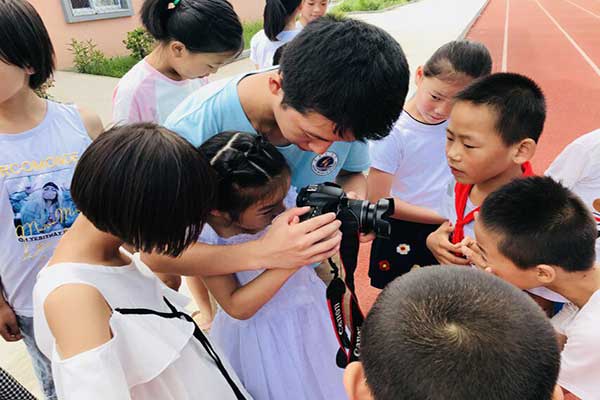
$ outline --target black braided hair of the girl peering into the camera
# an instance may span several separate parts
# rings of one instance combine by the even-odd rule
[[[290,169],[283,155],[262,136],[222,132],[204,142],[200,151],[219,177],[215,208],[234,221],[256,202],[287,192]]]

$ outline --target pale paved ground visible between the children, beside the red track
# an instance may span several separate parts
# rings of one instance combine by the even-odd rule
[[[442,44],[461,37],[486,1],[421,0],[386,12],[354,14],[352,17],[387,30],[404,48],[414,72]],[[211,80],[252,69],[248,59],[237,61],[222,68]],[[50,93],[57,100],[94,110],[105,126],[110,124],[111,99],[118,79],[64,71],[57,72],[55,78],[56,84]],[[22,343],[6,343],[0,339],[0,365],[40,396]]]

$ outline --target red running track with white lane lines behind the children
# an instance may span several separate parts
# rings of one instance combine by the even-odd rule
[[[494,71],[527,75],[544,91],[548,112],[536,172],[600,127],[600,0],[490,0],[467,37],[488,47]],[[356,273],[364,311],[379,293],[367,276],[369,250],[362,246]]]

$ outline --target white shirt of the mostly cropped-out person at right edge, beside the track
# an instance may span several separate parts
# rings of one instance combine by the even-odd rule
[[[600,129],[565,147],[548,167],[546,175],[581,197],[593,212],[600,231]],[[596,260],[600,261],[600,239],[596,240]]]

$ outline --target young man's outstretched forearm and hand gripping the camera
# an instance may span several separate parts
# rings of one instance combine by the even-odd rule
[[[278,216],[258,240],[230,246],[195,243],[177,258],[143,254],[153,271],[179,275],[214,276],[265,268],[297,268],[334,255],[341,242],[341,222],[334,213],[298,223],[308,207]]]

